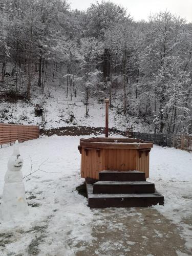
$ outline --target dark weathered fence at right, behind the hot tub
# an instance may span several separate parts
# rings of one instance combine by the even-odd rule
[[[181,134],[154,134],[154,133],[133,133],[134,138],[150,140],[160,146],[180,148],[181,150],[192,151],[192,136]]]

